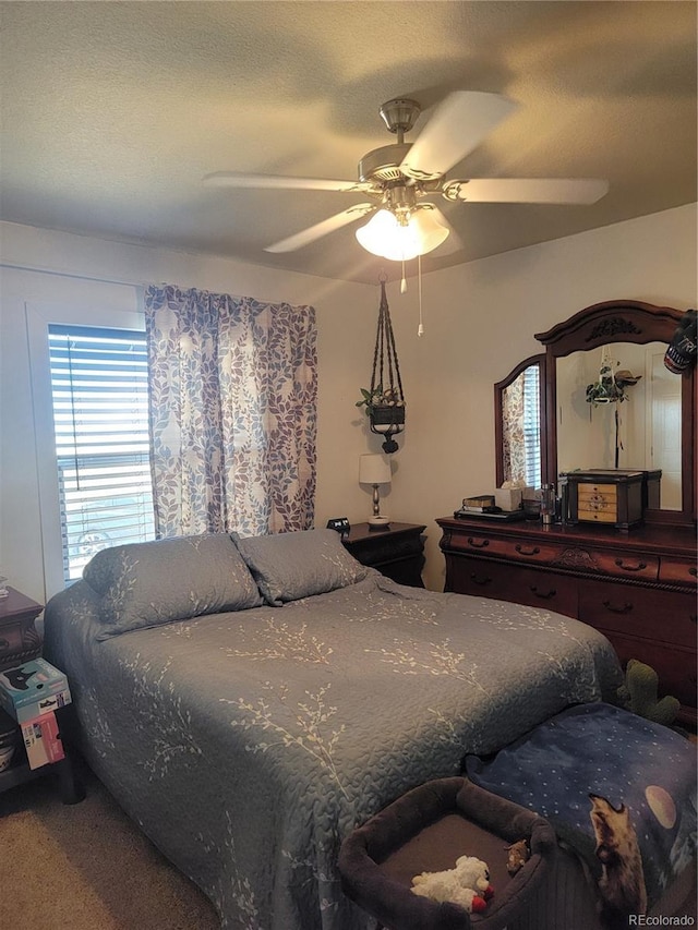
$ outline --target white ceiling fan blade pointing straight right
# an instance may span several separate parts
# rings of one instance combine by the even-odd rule
[[[591,178],[471,178],[442,189],[448,201],[474,204],[595,204],[607,192],[607,181]]]

